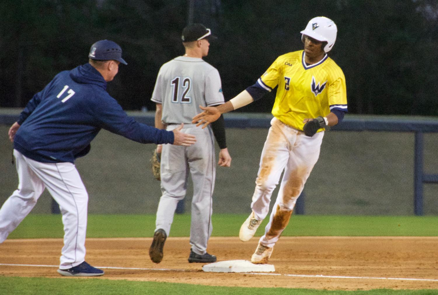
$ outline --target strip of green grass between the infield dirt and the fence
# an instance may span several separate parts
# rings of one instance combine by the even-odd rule
[[[242,214],[213,214],[212,236],[237,236]],[[256,236],[261,236],[266,218]],[[438,216],[293,215],[283,236],[438,236]],[[155,215],[89,215],[88,238],[152,237]],[[171,236],[190,234],[190,215],[176,214]],[[29,214],[9,238],[62,238],[61,216]]]

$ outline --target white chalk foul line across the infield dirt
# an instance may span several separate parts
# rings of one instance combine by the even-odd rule
[[[0,263],[0,265],[5,266],[16,266],[16,267],[58,267],[57,265],[41,265],[41,264],[12,264],[12,263]],[[170,269],[170,268],[142,268],[142,267],[97,267],[104,269],[113,270],[161,270],[161,271],[193,271],[193,270],[181,270],[181,269]],[[272,274],[272,273],[236,273],[236,274],[255,274],[262,276],[284,276],[284,277],[322,277],[322,278],[333,278],[333,279],[360,279],[360,280],[399,280],[399,281],[431,281],[438,282],[438,279],[416,279],[409,277],[346,277],[346,276],[325,276],[322,274]]]

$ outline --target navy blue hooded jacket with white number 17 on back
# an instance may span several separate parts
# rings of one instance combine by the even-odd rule
[[[106,92],[91,64],[62,71],[33,96],[18,119],[14,149],[43,163],[85,156],[100,129],[141,143],[173,143],[173,132],[136,122]]]

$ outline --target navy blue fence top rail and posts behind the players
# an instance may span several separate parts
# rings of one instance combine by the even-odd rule
[[[0,124],[13,124],[21,110],[0,109]],[[154,112],[127,112],[138,122],[154,125]],[[228,113],[224,114],[227,128],[269,128],[271,114],[263,113]],[[331,128],[333,131],[388,131],[413,132],[415,134],[414,150],[414,214],[423,215],[423,184],[438,183],[438,174],[424,173],[424,133],[438,132],[438,118],[410,116],[373,116],[346,115],[343,122]],[[183,200],[184,201],[184,200]],[[304,193],[298,198],[295,206],[296,214],[304,214]],[[57,204],[52,204],[52,212],[59,210]],[[184,202],[180,202],[177,213],[184,213]]]

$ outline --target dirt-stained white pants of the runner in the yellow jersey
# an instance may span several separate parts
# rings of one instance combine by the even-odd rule
[[[304,184],[318,161],[324,132],[312,137],[304,135],[274,117],[268,137],[261,152],[260,167],[251,208],[258,220],[265,219],[269,212],[271,195],[283,178],[272,209],[262,245],[273,247],[289,223],[293,207],[303,191]]]

